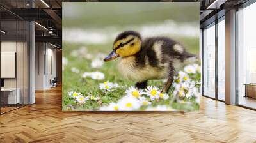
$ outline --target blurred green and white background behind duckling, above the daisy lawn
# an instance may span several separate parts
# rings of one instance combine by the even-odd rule
[[[67,2],[63,3],[63,41],[84,45],[106,44],[111,49],[118,33],[136,30],[143,37],[169,36],[198,54],[198,13],[199,3]]]

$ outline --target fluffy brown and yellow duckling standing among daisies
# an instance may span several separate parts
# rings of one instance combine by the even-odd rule
[[[181,70],[191,54],[177,41],[164,36],[144,40],[137,31],[124,31],[116,37],[112,52],[104,59],[111,61],[121,57],[118,70],[129,80],[136,82],[138,89],[145,89],[147,81],[167,79],[162,93],[168,92],[173,77]]]

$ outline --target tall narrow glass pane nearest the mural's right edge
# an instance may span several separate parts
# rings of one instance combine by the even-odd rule
[[[204,29],[204,96],[215,98],[215,23]]]

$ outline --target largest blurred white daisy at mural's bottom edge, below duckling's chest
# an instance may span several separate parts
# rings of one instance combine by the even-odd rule
[[[140,101],[132,96],[124,96],[118,101],[119,110],[138,110],[140,108]]]

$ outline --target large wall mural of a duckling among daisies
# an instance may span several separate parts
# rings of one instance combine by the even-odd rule
[[[63,111],[199,109],[199,3],[63,3]]]

